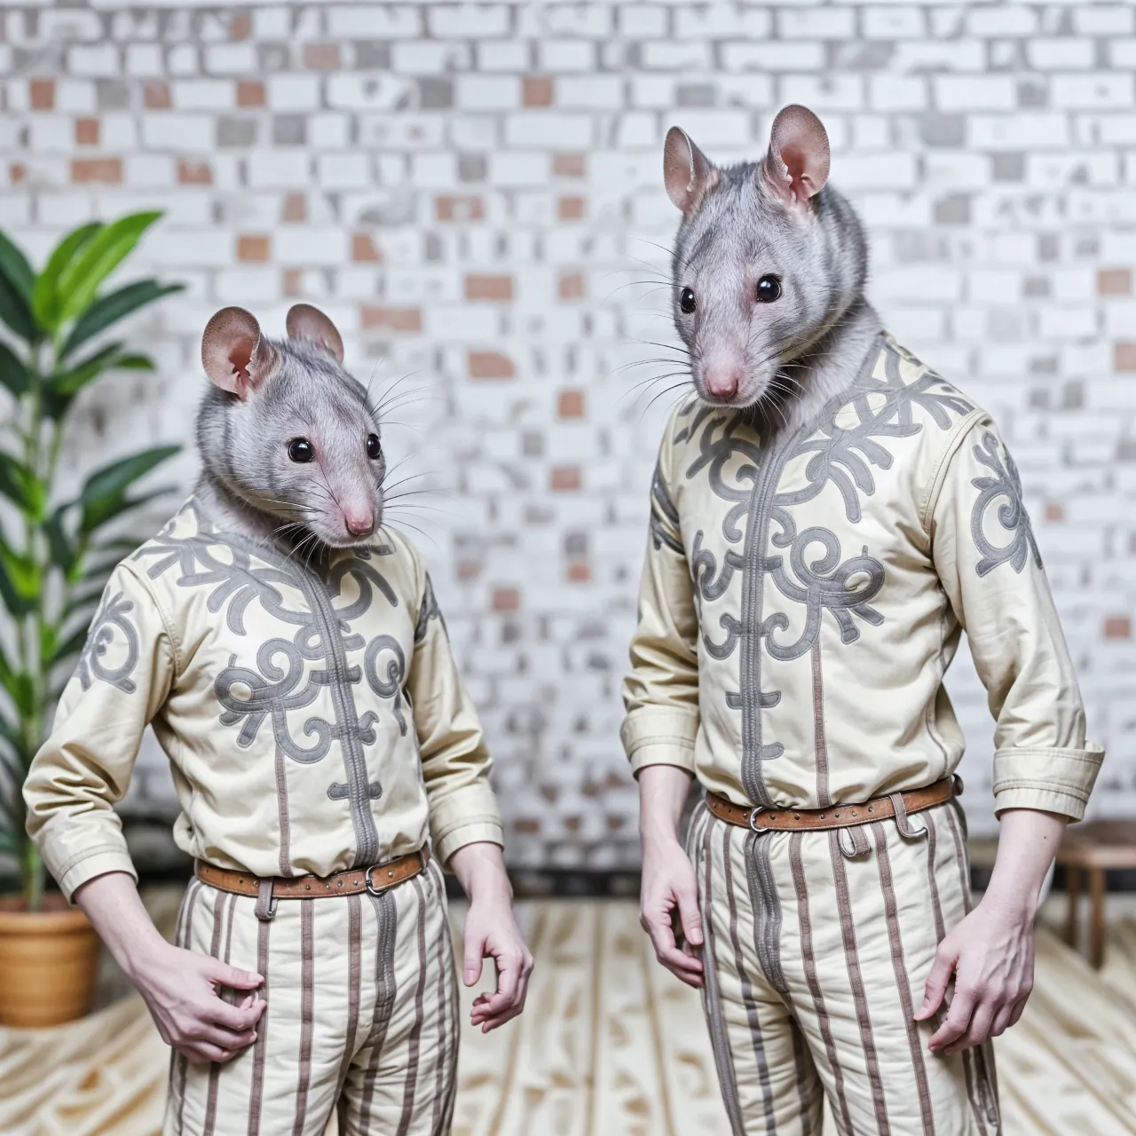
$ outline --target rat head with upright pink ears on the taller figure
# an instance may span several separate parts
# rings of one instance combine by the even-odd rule
[[[785,107],[765,158],[726,168],[673,126],[663,177],[683,211],[673,303],[699,395],[741,408],[797,393],[783,368],[808,357],[862,295],[867,275],[860,223],[825,189],[820,119]]]

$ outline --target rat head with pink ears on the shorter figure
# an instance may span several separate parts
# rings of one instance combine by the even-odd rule
[[[343,369],[343,341],[316,308],[287,314],[287,339],[266,340],[243,308],[206,326],[212,382],[198,416],[206,477],[268,515],[293,541],[362,544],[383,513],[386,459],[364,389]]]

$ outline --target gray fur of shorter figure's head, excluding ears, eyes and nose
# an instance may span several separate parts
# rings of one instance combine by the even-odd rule
[[[364,387],[310,340],[268,346],[273,369],[247,400],[207,387],[198,411],[198,495],[241,531],[286,546],[365,544],[370,537],[352,536],[342,512],[369,504],[375,527],[382,524],[386,457],[367,456],[367,435],[379,434],[379,425]],[[296,437],[315,445],[315,460],[289,458]]]

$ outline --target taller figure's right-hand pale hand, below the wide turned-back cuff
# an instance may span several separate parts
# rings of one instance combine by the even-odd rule
[[[935,954],[916,1020],[943,1003],[951,976],[954,994],[945,1020],[930,1038],[933,1053],[959,1053],[1012,1026],[1034,987],[1034,912],[988,894],[958,925]]]

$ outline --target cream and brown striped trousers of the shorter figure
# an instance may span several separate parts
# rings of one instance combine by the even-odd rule
[[[257,1041],[224,1064],[170,1063],[165,1136],[444,1136],[458,989],[442,869],[378,896],[257,901],[193,880],[177,944],[265,976]]]

